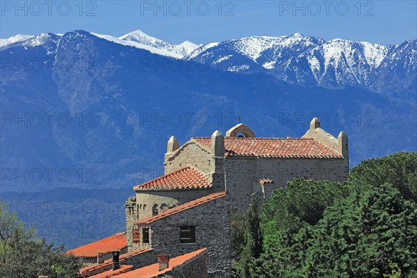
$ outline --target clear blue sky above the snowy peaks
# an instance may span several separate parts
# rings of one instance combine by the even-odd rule
[[[417,37],[417,1],[4,1],[0,37],[75,29],[167,42],[302,33],[382,44]]]

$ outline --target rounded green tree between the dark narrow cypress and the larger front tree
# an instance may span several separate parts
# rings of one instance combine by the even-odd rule
[[[275,190],[262,206],[263,254],[254,277],[304,277],[311,227],[335,199],[347,195],[341,183],[294,179],[286,189]]]

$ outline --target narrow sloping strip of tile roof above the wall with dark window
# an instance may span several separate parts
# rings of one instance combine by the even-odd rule
[[[181,211],[186,211],[189,208],[193,208],[195,206],[199,206],[200,204],[205,204],[207,202],[211,202],[215,199],[221,198],[226,196],[226,191],[221,191],[218,193],[213,193],[210,195],[206,195],[204,197],[200,197],[198,199],[195,199],[191,202],[181,204],[179,206],[175,206],[174,208],[169,208],[166,211],[163,211],[155,216],[149,216],[147,218],[142,218],[135,222],[135,224],[151,224],[152,222],[155,222],[156,220],[160,220],[161,218],[168,217],[170,215],[173,215],[175,213],[179,213]]]

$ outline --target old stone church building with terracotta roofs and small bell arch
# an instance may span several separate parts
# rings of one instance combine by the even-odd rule
[[[343,182],[349,172],[347,136],[335,138],[317,118],[302,138],[257,138],[245,124],[211,137],[167,142],[164,175],[135,186],[126,200],[128,252],[155,263],[156,254],[181,256],[207,249],[208,277],[231,270],[230,214],[246,211],[295,177]],[[142,265],[141,265],[142,266]],[[133,265],[135,267],[135,265]]]

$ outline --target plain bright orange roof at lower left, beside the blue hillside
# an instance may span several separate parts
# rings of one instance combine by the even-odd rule
[[[126,232],[118,233],[108,238],[97,240],[88,245],[75,248],[67,251],[67,253],[74,254],[74,256],[82,256],[84,258],[92,258],[99,253],[107,254],[113,250],[122,250],[127,247]]]

